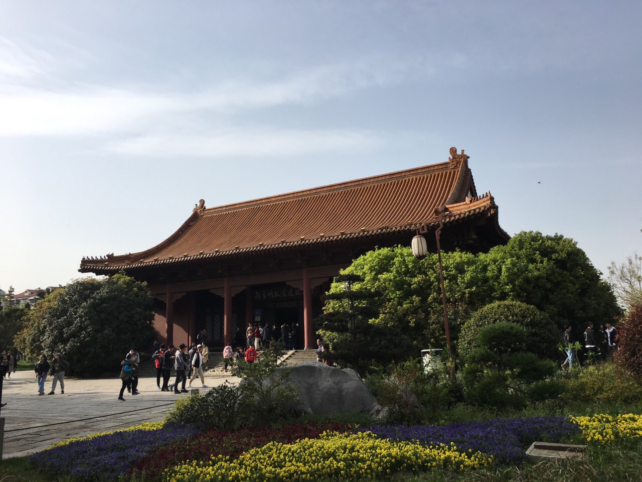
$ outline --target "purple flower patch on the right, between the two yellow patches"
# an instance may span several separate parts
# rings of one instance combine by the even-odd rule
[[[427,445],[454,442],[465,451],[483,452],[499,463],[519,463],[526,458],[525,449],[536,440],[558,442],[578,433],[577,425],[568,418],[497,418],[484,422],[450,425],[374,425],[370,431],[389,440],[408,440]]]

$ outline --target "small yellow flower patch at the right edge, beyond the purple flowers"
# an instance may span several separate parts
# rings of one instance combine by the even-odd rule
[[[618,416],[596,414],[571,417],[580,427],[587,442],[609,443],[623,438],[642,438],[642,415],[624,413]]]

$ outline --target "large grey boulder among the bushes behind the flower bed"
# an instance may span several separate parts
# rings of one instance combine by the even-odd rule
[[[299,388],[297,415],[368,413],[379,416],[382,407],[356,371],[341,370],[317,361],[295,365],[288,383]]]

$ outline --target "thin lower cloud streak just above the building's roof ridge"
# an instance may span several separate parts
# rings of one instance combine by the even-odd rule
[[[355,130],[225,129],[211,134],[152,134],[114,141],[107,149],[130,156],[285,157],[332,151],[364,151],[385,141],[374,132]]]

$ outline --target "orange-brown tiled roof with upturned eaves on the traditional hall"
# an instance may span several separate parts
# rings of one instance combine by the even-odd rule
[[[202,206],[159,245],[141,253],[83,258],[80,271],[235,256],[417,229],[435,222],[435,208],[444,205],[449,208],[444,222],[455,222],[494,206],[490,195],[476,195],[467,160],[456,159],[254,201]]]

